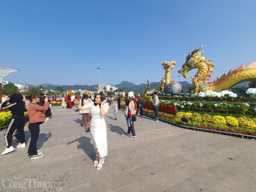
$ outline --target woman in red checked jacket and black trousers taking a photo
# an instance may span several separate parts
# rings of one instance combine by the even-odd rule
[[[31,103],[28,107],[28,117],[29,117],[29,124],[28,130],[31,132],[31,139],[30,144],[28,147],[28,156],[31,156],[30,159],[38,159],[44,156],[42,150],[37,150],[36,142],[38,140],[39,132],[40,132],[40,124],[44,123],[45,121],[45,113],[49,108],[48,97],[46,96],[44,99],[44,105],[40,106],[39,103],[40,99],[37,94],[31,94],[25,97]]]

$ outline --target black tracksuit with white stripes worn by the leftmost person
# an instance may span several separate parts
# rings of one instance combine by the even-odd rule
[[[7,125],[7,129],[4,133],[4,140],[6,147],[10,148],[12,146],[12,134],[17,129],[20,135],[20,143],[25,143],[25,133],[24,126],[26,119],[24,117],[24,112],[27,111],[24,101],[17,101],[10,105],[6,105],[8,101],[4,101],[0,104],[1,109],[9,109],[11,111],[12,117]]]

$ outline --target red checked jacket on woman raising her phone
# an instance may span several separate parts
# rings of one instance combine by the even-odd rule
[[[37,122],[44,122],[45,121],[45,113],[49,108],[49,102],[45,102],[43,106],[40,106],[35,103],[30,103],[28,107],[28,117],[29,123],[37,123]]]

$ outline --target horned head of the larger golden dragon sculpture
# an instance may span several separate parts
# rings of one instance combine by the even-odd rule
[[[203,44],[199,48],[196,48],[192,52],[188,52],[188,56],[186,58],[185,63],[182,65],[182,69],[178,70],[178,73],[180,73],[185,79],[187,79],[187,72],[192,70],[195,65],[201,60],[201,54],[203,52],[198,53],[200,49],[202,49]]]

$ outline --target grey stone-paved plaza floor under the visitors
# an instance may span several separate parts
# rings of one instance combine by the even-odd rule
[[[137,117],[130,138],[124,110],[105,116],[108,156],[100,170],[91,133],[81,127],[74,108],[52,107],[52,118],[40,125],[37,148],[45,156],[30,160],[26,148],[0,156],[1,191],[67,192],[252,192],[256,191],[256,141],[175,127]],[[0,130],[1,150],[4,132]],[[13,141],[16,139],[13,138]]]

